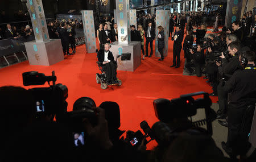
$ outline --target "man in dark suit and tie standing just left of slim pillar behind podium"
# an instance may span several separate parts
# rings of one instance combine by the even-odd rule
[[[153,53],[153,40],[155,39],[155,29],[152,27],[152,23],[148,22],[148,27],[145,30],[146,37],[146,56],[151,57]],[[150,43],[150,56],[148,56],[148,43]]]

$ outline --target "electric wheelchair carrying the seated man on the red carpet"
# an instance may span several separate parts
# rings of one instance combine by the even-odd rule
[[[118,59],[118,56],[117,56],[117,59]],[[117,60],[115,60],[113,62],[117,66]],[[106,79],[106,73],[104,72],[104,69],[102,68],[102,63],[99,61],[97,61],[96,63],[98,64],[98,67],[101,70],[101,74],[99,74],[99,73],[96,74],[96,82],[97,82],[97,84],[101,84],[102,89],[108,88],[109,85],[118,85],[118,86],[122,85],[122,81],[119,80],[118,78],[116,81],[110,82],[110,84],[109,84]],[[115,73],[117,74],[117,68],[115,70],[116,70]]]

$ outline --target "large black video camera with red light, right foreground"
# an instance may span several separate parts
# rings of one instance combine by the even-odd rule
[[[193,96],[203,95],[204,98],[194,99]],[[180,98],[164,99],[158,98],[153,102],[155,115],[159,121],[164,123],[172,122],[172,119],[181,119],[192,117],[197,114],[197,109],[204,109],[205,119],[200,121],[192,121],[194,127],[204,124],[207,126],[207,132],[212,135],[212,121],[216,119],[216,113],[210,108],[212,101],[206,92],[196,92],[191,94],[180,95]]]

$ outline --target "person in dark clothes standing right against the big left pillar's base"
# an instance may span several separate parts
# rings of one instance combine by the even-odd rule
[[[67,27],[65,26],[65,23],[61,23],[61,28],[59,30],[59,37],[61,39],[61,45],[64,52],[64,55],[72,55],[69,53],[69,33],[67,31]]]

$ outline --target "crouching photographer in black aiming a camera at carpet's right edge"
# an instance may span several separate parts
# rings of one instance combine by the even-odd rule
[[[192,55],[192,60],[185,65],[185,68],[189,71],[189,73],[193,73],[193,69],[191,67],[195,67],[196,76],[201,77],[201,67],[205,64],[204,50],[202,49],[202,45],[197,45],[196,51],[189,49],[189,52]]]

